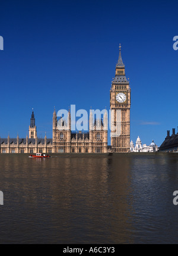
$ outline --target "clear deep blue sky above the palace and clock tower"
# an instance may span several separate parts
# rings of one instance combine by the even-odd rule
[[[131,85],[131,139],[160,145],[166,130],[177,132],[177,0],[0,5],[1,138],[26,137],[31,108],[38,135],[48,138],[54,105],[109,110],[119,43]]]

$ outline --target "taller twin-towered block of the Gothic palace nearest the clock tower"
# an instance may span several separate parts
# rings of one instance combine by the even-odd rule
[[[90,111],[89,132],[71,132],[71,114],[68,121],[57,120],[53,113],[53,153],[106,153],[107,152],[107,112],[103,121],[93,121]]]

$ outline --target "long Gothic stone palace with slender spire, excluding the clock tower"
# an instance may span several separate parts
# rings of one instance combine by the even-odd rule
[[[0,138],[1,153],[106,153],[107,152],[107,114],[103,121],[93,122],[90,113],[90,130],[84,132],[71,132],[71,114],[68,120],[57,119],[56,111],[53,113],[53,138],[37,138],[34,113],[31,115],[29,135],[26,138]]]

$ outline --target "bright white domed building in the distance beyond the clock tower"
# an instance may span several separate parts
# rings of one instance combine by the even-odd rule
[[[131,152],[156,152],[158,151],[158,146],[155,145],[153,140],[149,146],[147,146],[146,144],[142,145],[141,139],[138,136],[138,138],[136,139],[135,146],[134,146],[134,142],[131,141],[130,151]]]

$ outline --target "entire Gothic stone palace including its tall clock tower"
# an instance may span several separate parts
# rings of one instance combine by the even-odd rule
[[[34,111],[31,114],[29,133],[26,138],[0,138],[0,153],[107,153],[130,151],[130,108],[131,89],[125,76],[125,65],[121,57],[115,68],[115,78],[110,88],[111,110],[111,146],[107,145],[108,117],[95,120],[90,111],[89,131],[71,131],[71,113],[68,120],[59,122],[56,111],[53,112],[53,136],[48,139],[37,137]],[[60,127],[59,127],[60,123]],[[67,126],[67,129],[66,129]],[[98,129],[100,127],[100,129]],[[116,127],[119,127],[116,132]],[[60,128],[60,129],[59,129]]]

